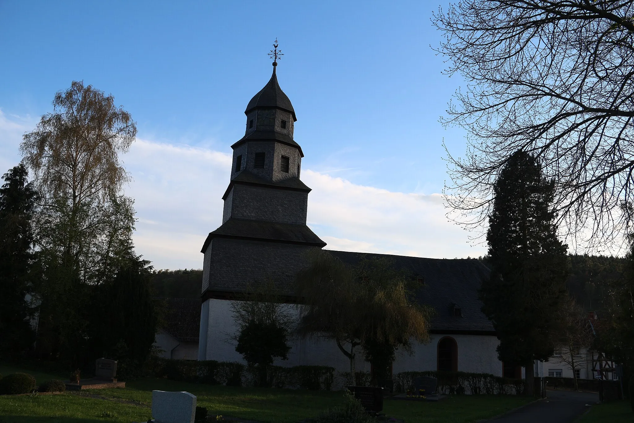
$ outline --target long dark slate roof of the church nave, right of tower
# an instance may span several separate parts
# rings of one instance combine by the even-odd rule
[[[477,332],[495,334],[493,324],[482,313],[478,290],[490,270],[476,259],[425,259],[363,252],[328,251],[346,264],[356,264],[361,258],[388,258],[394,266],[411,277],[422,277],[424,284],[417,291],[420,304],[432,306],[436,315],[431,329],[436,332]],[[462,316],[453,315],[454,304]]]

